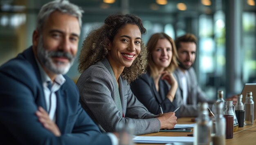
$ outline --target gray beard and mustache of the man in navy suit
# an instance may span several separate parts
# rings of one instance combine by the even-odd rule
[[[66,74],[70,67],[73,65],[75,57],[72,56],[68,52],[63,51],[47,51],[43,47],[43,38],[42,36],[39,37],[39,42],[37,46],[37,56],[38,60],[42,63],[43,66],[49,71],[51,71],[54,74]],[[66,66],[58,66],[63,65],[63,62],[57,62],[54,63],[52,61],[53,56],[64,56],[69,59],[69,63]]]

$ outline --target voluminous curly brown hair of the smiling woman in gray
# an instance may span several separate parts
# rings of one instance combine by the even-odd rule
[[[78,70],[80,73],[107,56],[109,43],[113,41],[119,29],[123,28],[126,24],[137,25],[141,34],[146,33],[141,19],[130,14],[110,15],[104,23],[99,29],[92,30],[83,41],[83,46],[79,54]],[[147,50],[142,41],[140,46],[141,51],[137,58],[130,67],[125,67],[121,74],[122,78],[126,79],[129,84],[139,75],[146,72]]]

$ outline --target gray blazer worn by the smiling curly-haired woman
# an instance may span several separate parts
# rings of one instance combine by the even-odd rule
[[[86,69],[76,83],[80,103],[85,111],[106,132],[116,132],[117,125],[121,122],[132,123],[135,135],[158,132],[160,122],[155,118],[156,115],[148,112],[137,100],[126,80],[120,76],[118,82],[119,90],[107,59]],[[123,113],[118,108],[118,95]]]

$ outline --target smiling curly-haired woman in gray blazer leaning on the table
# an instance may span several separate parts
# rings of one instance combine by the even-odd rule
[[[136,135],[170,129],[177,123],[173,112],[160,117],[148,112],[130,89],[129,83],[146,68],[144,33],[137,16],[115,14],[83,41],[79,56],[82,74],[76,83],[80,103],[106,132],[117,131],[120,123],[135,125]]]

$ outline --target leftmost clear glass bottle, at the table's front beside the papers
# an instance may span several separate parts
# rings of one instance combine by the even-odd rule
[[[208,103],[198,103],[199,116],[194,130],[194,145],[210,145],[212,121],[209,118]]]

